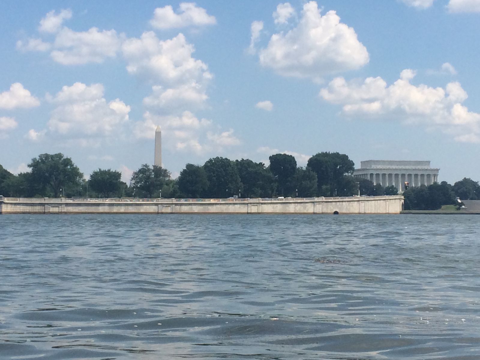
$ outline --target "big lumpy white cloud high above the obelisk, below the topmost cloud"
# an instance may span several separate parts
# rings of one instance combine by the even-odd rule
[[[154,83],[153,93],[144,104],[157,108],[201,107],[208,99],[206,89],[213,75],[201,60],[194,59],[195,48],[183,34],[159,40],[145,32],[122,45],[127,71]]]

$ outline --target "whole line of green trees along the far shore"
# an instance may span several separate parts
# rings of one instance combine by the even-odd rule
[[[306,167],[294,156],[274,154],[270,165],[250,159],[208,159],[204,165],[186,164],[177,179],[157,166],[143,164],[130,182],[120,171],[97,169],[89,179],[63,154],[41,154],[28,164],[29,172],[13,175],[0,165],[0,194],[12,197],[139,197],[139,198],[243,198],[395,195],[394,186],[383,188],[353,176],[354,163],[347,155],[321,152]],[[462,200],[480,199],[479,183],[471,179],[404,192],[405,209],[433,210]]]

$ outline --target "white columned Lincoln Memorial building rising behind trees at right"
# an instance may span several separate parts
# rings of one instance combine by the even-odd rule
[[[372,181],[375,185],[394,185],[399,192],[405,190],[405,181],[410,186],[431,185],[438,182],[438,170],[430,167],[430,161],[367,160],[353,175]]]

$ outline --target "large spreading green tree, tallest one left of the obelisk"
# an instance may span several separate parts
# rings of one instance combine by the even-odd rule
[[[54,197],[60,195],[60,189],[69,185],[79,185],[83,179],[80,169],[73,164],[70,157],[63,154],[41,154],[28,164],[32,169],[29,180],[33,186],[38,186],[42,192],[51,190]]]

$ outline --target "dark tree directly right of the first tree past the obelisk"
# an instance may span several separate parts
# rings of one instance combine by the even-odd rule
[[[235,163],[226,157],[214,157],[204,164],[208,180],[207,196],[230,197],[241,190],[240,176]]]

